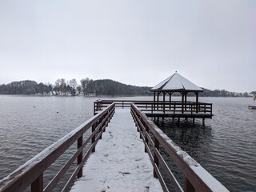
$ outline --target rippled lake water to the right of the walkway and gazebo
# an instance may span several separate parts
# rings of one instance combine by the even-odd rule
[[[201,120],[195,126],[191,120],[180,126],[170,118],[154,122],[230,191],[255,191],[256,110],[247,108],[251,98],[202,100],[214,104],[214,117],[206,126]]]

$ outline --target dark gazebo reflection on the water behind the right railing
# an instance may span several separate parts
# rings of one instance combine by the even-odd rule
[[[212,142],[211,127],[202,126],[202,122],[196,121],[193,125],[193,121],[188,119],[178,123],[177,119],[172,118],[152,118],[152,121],[161,128],[174,142],[185,150],[191,157],[202,162],[204,154],[207,154],[210,149],[210,143]],[[174,176],[178,179],[178,182],[184,188],[184,175],[169,158],[169,155],[161,151],[162,157],[165,158],[167,165],[173,172]],[[163,173],[163,171],[162,171]],[[165,177],[164,177],[165,178]],[[174,191],[170,184],[168,185],[170,191]]]

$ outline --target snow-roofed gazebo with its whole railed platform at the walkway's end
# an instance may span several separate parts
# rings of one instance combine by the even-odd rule
[[[186,78],[177,72],[166,78],[164,81],[158,83],[150,89],[154,92],[154,101],[134,101],[134,100],[101,100],[94,102],[94,114],[98,110],[102,110],[102,107],[115,102],[119,107],[130,107],[134,104],[138,107],[142,113],[152,118],[192,118],[193,124],[195,118],[202,118],[202,124],[204,125],[206,118],[212,118],[212,103],[199,102],[198,94],[202,92],[202,88],[194,85]],[[172,95],[174,93],[181,94],[182,98],[178,101],[172,101]],[[187,101],[189,93],[195,94],[195,101]],[[166,94],[169,94],[169,98],[166,99]],[[161,99],[160,96],[162,97]]]

